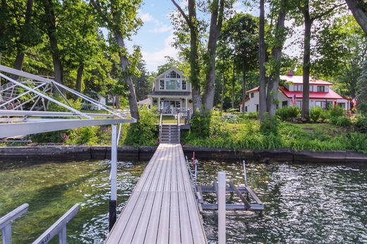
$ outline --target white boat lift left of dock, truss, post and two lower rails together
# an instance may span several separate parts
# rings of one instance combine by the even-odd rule
[[[13,79],[11,76],[18,79]],[[75,108],[68,97],[82,104],[97,106],[104,113],[94,114]],[[50,78],[0,65],[0,139],[7,141],[25,135],[68,130],[86,126],[112,125],[111,198],[109,200],[109,230],[116,222],[117,145],[122,123],[135,123],[124,111],[113,109],[91,97],[76,92]],[[28,204],[23,204],[0,218],[2,243],[11,243],[11,221],[25,214]],[[61,216],[34,244],[48,243],[59,234],[59,243],[66,243],[66,224],[78,212],[76,204]]]

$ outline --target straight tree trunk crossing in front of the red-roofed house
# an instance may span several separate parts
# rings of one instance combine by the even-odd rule
[[[310,56],[311,56],[311,26],[310,11],[308,0],[303,10],[304,23],[304,41],[303,41],[303,92],[302,92],[302,117],[308,121],[310,104]]]

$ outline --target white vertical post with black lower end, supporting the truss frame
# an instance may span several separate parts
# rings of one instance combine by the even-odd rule
[[[109,201],[109,230],[116,222],[116,200],[117,200],[117,126],[112,125],[111,145],[111,200]]]

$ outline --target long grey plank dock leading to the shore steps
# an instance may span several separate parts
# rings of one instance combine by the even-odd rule
[[[160,144],[105,243],[207,243],[180,144]]]

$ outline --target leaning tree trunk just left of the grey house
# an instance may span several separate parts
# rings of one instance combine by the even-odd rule
[[[124,38],[122,37],[119,30],[114,30],[114,35],[116,37],[116,42],[121,47],[121,49],[125,49],[125,42]],[[136,102],[136,93],[135,88],[133,86],[133,80],[131,79],[131,75],[127,73],[128,68],[128,59],[124,54],[119,51],[119,58],[120,58],[120,66],[124,73],[124,82],[125,85],[128,87],[128,104],[130,105],[130,113],[133,118],[139,120],[139,110],[138,110],[138,102]]]

